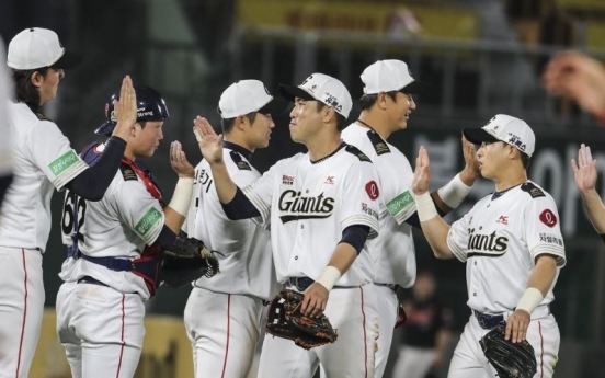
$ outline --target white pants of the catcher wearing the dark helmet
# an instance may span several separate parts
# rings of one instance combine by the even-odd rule
[[[132,378],[142,348],[138,294],[65,283],[57,294],[57,334],[73,378]]]

